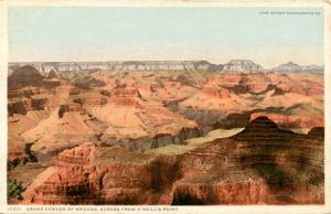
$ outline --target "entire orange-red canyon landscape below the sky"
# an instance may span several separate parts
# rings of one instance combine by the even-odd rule
[[[10,204],[323,204],[319,66],[11,63]]]

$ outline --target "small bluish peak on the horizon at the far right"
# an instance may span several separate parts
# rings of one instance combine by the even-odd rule
[[[319,65],[299,65],[292,62],[281,64],[271,68],[273,72],[323,72],[324,67]]]

